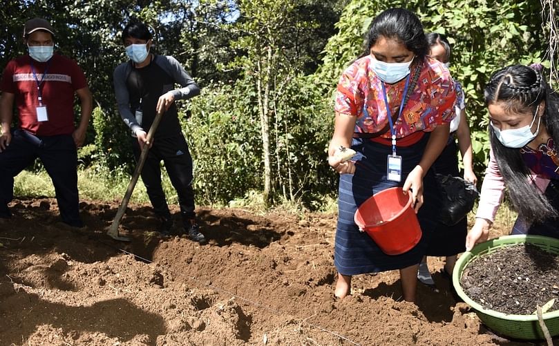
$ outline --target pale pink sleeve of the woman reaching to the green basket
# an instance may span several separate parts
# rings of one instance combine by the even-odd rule
[[[493,155],[493,150],[489,151],[489,164],[485,171],[482,184],[480,203],[477,206],[476,218],[487,219],[491,222],[495,220],[495,214],[501,205],[504,194],[504,180],[499,171],[499,166]]]

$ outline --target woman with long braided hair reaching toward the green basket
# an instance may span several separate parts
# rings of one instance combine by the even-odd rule
[[[498,70],[485,87],[491,152],[466,249],[484,242],[505,187],[518,211],[512,234],[559,238],[559,95],[542,66]]]

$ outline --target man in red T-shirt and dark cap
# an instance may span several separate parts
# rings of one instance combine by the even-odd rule
[[[92,97],[76,62],[53,54],[55,31],[44,19],[23,27],[29,54],[8,63],[0,82],[0,218],[10,218],[14,177],[37,157],[53,180],[62,220],[83,227],[77,192],[77,147],[84,143]],[[74,97],[81,118],[74,126]],[[14,102],[18,127],[10,128]]]

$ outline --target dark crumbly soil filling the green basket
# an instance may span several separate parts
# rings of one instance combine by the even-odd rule
[[[502,247],[473,260],[460,283],[466,295],[486,309],[530,315],[536,305],[555,299],[547,312],[555,311],[559,309],[559,256],[531,244]]]

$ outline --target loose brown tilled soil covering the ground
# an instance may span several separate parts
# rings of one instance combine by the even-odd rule
[[[334,298],[335,215],[200,208],[210,240],[200,246],[160,238],[147,205],[124,217],[131,243],[105,235],[117,201],[82,202],[80,231],[57,222],[55,200],[10,205],[0,345],[526,344],[456,303],[439,258],[429,258],[439,289],[419,285],[417,305],[401,301],[397,271],[356,276],[352,295]]]

